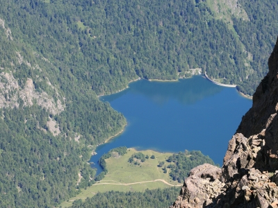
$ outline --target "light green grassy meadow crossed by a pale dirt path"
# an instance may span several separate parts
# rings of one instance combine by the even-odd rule
[[[140,165],[133,164],[134,162],[129,163],[129,157],[131,157],[133,153],[138,152],[149,155],[149,159],[146,159],[145,162],[138,161]],[[155,156],[155,159],[150,158],[152,155]],[[93,184],[87,189],[81,189],[81,193],[79,193],[78,196],[71,198],[68,202],[63,202],[60,206],[70,207],[74,200],[79,198],[85,200],[87,197],[94,196],[98,191],[145,191],[145,189],[169,187],[168,184],[161,181],[152,182],[158,179],[165,180],[165,182],[169,184],[181,186],[181,184],[170,178],[169,169],[167,169],[167,173],[163,173],[163,167],[158,167],[159,162],[164,161],[165,166],[170,164],[165,161],[170,155],[172,155],[172,153],[158,153],[153,150],[137,151],[133,148],[129,148],[126,155],[106,159],[108,173],[103,180]]]

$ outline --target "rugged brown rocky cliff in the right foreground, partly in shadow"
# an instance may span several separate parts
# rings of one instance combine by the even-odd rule
[[[278,40],[222,168],[190,171],[173,207],[278,207]]]

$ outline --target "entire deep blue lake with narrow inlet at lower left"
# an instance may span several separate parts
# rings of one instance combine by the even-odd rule
[[[177,82],[139,80],[100,100],[122,112],[128,124],[121,135],[97,147],[90,162],[98,173],[99,157],[118,146],[171,153],[201,150],[222,165],[229,139],[252,106],[235,88],[215,85],[202,76]]]

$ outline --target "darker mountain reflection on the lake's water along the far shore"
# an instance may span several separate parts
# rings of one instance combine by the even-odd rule
[[[136,83],[131,83],[129,88],[112,94],[110,96],[101,97],[101,101],[113,102],[117,98],[122,97],[124,94],[140,94],[147,96],[154,103],[163,105],[171,99],[178,101],[183,105],[194,104],[195,102],[202,100],[206,96],[217,94],[222,90],[222,87],[218,85],[211,85],[210,82],[202,82],[202,76],[190,78],[186,80],[179,80],[177,82],[159,82],[159,81],[148,81],[140,80]],[[199,81],[196,83],[196,81]],[[202,85],[195,87],[197,85]]]

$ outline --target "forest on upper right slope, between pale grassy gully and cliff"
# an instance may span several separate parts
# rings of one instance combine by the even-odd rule
[[[234,28],[247,51],[252,53],[252,71],[247,80],[238,84],[238,90],[252,95],[268,72],[268,58],[278,34],[277,1],[239,1],[250,21],[233,18]],[[240,67],[240,66],[239,66]]]

